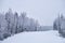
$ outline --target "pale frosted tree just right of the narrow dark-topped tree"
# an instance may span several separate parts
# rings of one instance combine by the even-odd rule
[[[26,13],[23,12],[21,13],[20,18],[18,18],[18,27],[20,27],[18,31],[20,32],[24,31],[25,19],[26,19]]]

